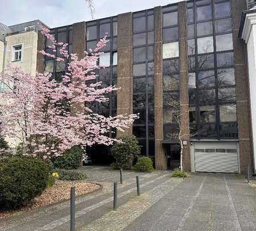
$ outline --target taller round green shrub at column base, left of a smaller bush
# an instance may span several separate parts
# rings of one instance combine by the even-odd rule
[[[110,153],[115,158],[117,168],[131,169],[134,160],[141,154],[141,146],[135,136],[121,136],[118,139],[123,143],[116,142]]]

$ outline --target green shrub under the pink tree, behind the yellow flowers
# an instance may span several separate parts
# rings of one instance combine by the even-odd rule
[[[80,146],[73,146],[59,157],[52,157],[53,165],[58,169],[77,169],[82,161],[83,150]]]

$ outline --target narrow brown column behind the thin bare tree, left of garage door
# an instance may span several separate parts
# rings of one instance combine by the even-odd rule
[[[180,125],[181,136],[187,145],[183,149],[185,171],[191,171],[189,148],[189,110],[188,110],[188,49],[187,49],[187,5],[178,4],[179,16],[179,78],[180,78]]]

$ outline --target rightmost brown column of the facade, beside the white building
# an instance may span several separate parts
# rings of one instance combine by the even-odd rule
[[[237,123],[241,173],[246,173],[247,163],[251,163],[252,165],[251,120],[245,43],[241,39],[238,39],[242,10],[246,9],[246,0],[232,1],[234,69],[237,92]]]

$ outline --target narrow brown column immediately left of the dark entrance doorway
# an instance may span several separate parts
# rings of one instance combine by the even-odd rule
[[[167,169],[167,156],[163,148],[163,54],[162,7],[155,7],[155,168]]]

